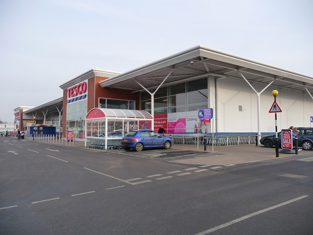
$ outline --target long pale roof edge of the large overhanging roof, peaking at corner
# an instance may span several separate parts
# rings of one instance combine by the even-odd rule
[[[271,65],[268,65],[265,63],[254,61],[254,60],[251,60],[251,59],[248,59],[245,57],[241,57],[241,56],[238,56],[235,54],[226,53],[224,51],[213,49],[210,47],[205,47],[202,45],[199,45],[196,47],[191,47],[191,48],[186,49],[184,51],[181,51],[179,53],[167,56],[163,59],[160,59],[160,60],[157,60],[155,62],[149,63],[147,65],[141,66],[137,69],[113,76],[109,79],[106,79],[104,81],[99,82],[99,84],[101,87],[110,86],[110,85],[114,84],[115,81],[116,82],[125,81],[128,78],[132,78],[134,76],[139,76],[139,75],[148,73],[150,71],[155,71],[157,69],[164,68],[167,65],[179,63],[179,62],[182,62],[183,60],[192,59],[192,58],[195,58],[197,56],[204,56],[204,57],[211,58],[211,59],[221,60],[223,62],[237,64],[238,66],[242,66],[242,67],[248,66],[247,68],[250,68],[250,69],[264,71],[264,72],[272,73],[274,75],[284,76],[284,77],[288,77],[288,78],[292,78],[295,80],[299,80],[299,81],[313,84],[313,77],[311,77],[311,76],[297,73],[297,72],[293,72],[293,71],[289,71],[289,70],[285,70],[285,69],[281,69],[281,68],[278,68],[275,66],[271,66]],[[175,63],[173,63],[173,60],[176,60]],[[170,62],[172,62],[172,63],[170,63]]]

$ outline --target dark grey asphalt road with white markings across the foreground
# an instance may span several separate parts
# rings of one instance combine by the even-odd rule
[[[1,235],[313,234],[313,154],[187,165],[172,162],[173,149],[138,155],[5,137],[0,149]]]

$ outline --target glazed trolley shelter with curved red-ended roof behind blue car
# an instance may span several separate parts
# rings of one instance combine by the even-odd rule
[[[119,145],[122,136],[136,129],[151,129],[153,117],[147,111],[127,109],[91,109],[85,119],[85,147],[87,140],[110,145]]]

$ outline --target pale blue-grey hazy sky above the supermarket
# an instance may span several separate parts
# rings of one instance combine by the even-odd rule
[[[203,45],[313,76],[312,0],[0,0],[0,120],[99,68]]]

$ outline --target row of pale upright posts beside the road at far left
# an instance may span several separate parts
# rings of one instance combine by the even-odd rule
[[[66,136],[63,136],[63,134],[61,135],[25,134],[24,139],[28,141],[56,143],[56,144],[64,144],[64,145],[69,145],[69,146],[74,146],[75,144],[75,139],[67,140]]]

